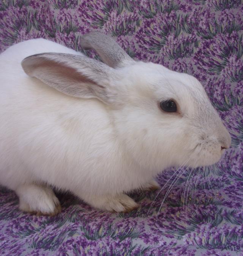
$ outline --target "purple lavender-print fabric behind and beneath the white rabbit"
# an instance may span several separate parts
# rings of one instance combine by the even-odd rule
[[[157,197],[157,192],[131,195],[141,205],[131,213],[94,210],[72,195],[58,194],[60,215],[35,216],[19,211],[16,194],[1,188],[0,255],[243,255],[243,4],[0,2],[0,51],[39,37],[82,51],[80,36],[93,29],[113,35],[134,59],[196,76],[224,119],[232,146],[217,165],[186,170],[174,187],[170,185],[175,176],[169,178],[176,169],[166,170],[158,181],[161,186],[169,182]],[[94,52],[85,54],[97,57]]]

